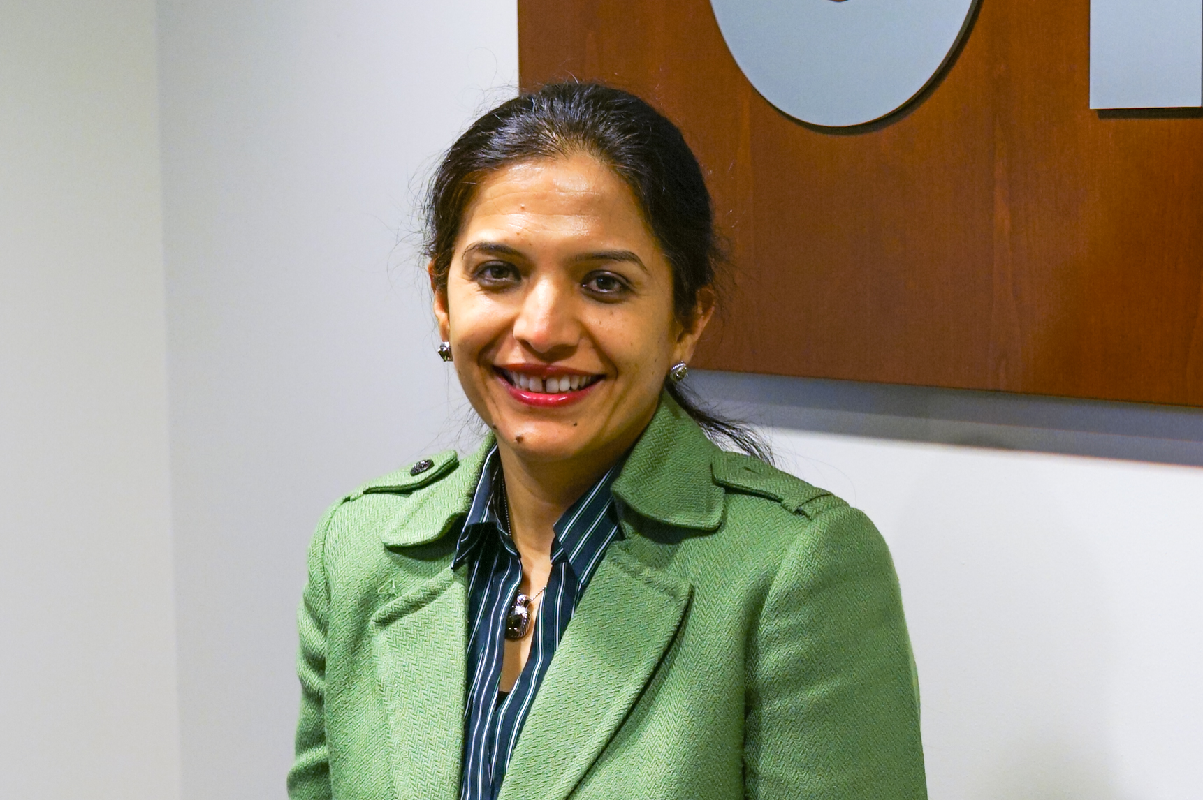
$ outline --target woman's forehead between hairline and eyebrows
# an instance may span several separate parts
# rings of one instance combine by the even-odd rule
[[[621,239],[658,250],[630,187],[588,155],[522,161],[486,177],[464,214],[458,244],[480,237],[531,244]]]

